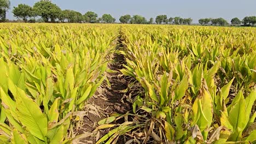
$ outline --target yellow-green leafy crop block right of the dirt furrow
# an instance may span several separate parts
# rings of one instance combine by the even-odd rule
[[[143,143],[255,143],[256,29],[123,26],[122,73],[144,89],[108,134]],[[130,87],[133,87],[131,83]],[[103,137],[102,140],[107,140]],[[101,142],[101,140],[100,140]]]

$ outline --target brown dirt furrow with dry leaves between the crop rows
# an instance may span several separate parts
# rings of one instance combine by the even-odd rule
[[[118,39],[116,50],[118,51],[120,48],[121,44]],[[88,115],[84,117],[84,125],[78,130],[78,135],[86,132],[91,133],[97,128],[97,122],[109,117],[110,114],[124,114],[132,110],[132,104],[125,99],[122,100],[124,94],[127,94],[127,92],[122,92],[122,90],[126,89],[128,86],[127,79],[125,79],[125,76],[119,71],[124,68],[123,64],[125,64],[124,56],[119,55],[117,52],[114,53],[112,62],[108,64],[108,68],[111,72],[106,72],[106,77],[111,86],[109,87],[107,81],[104,81],[103,84],[97,88],[94,97],[88,101],[85,110],[88,112]],[[95,136],[87,137],[80,142],[95,143],[100,137],[107,134],[108,131],[109,129],[100,131]]]

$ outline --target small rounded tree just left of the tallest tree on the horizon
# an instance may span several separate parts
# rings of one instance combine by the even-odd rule
[[[19,4],[18,7],[14,7],[13,14],[18,19],[21,18],[23,21],[26,22],[28,17],[32,17],[33,10],[30,5]]]

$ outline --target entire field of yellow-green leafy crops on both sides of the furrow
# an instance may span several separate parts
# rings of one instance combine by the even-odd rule
[[[1,143],[256,143],[255,28],[5,23],[0,52]],[[102,87],[130,109],[74,133]]]

